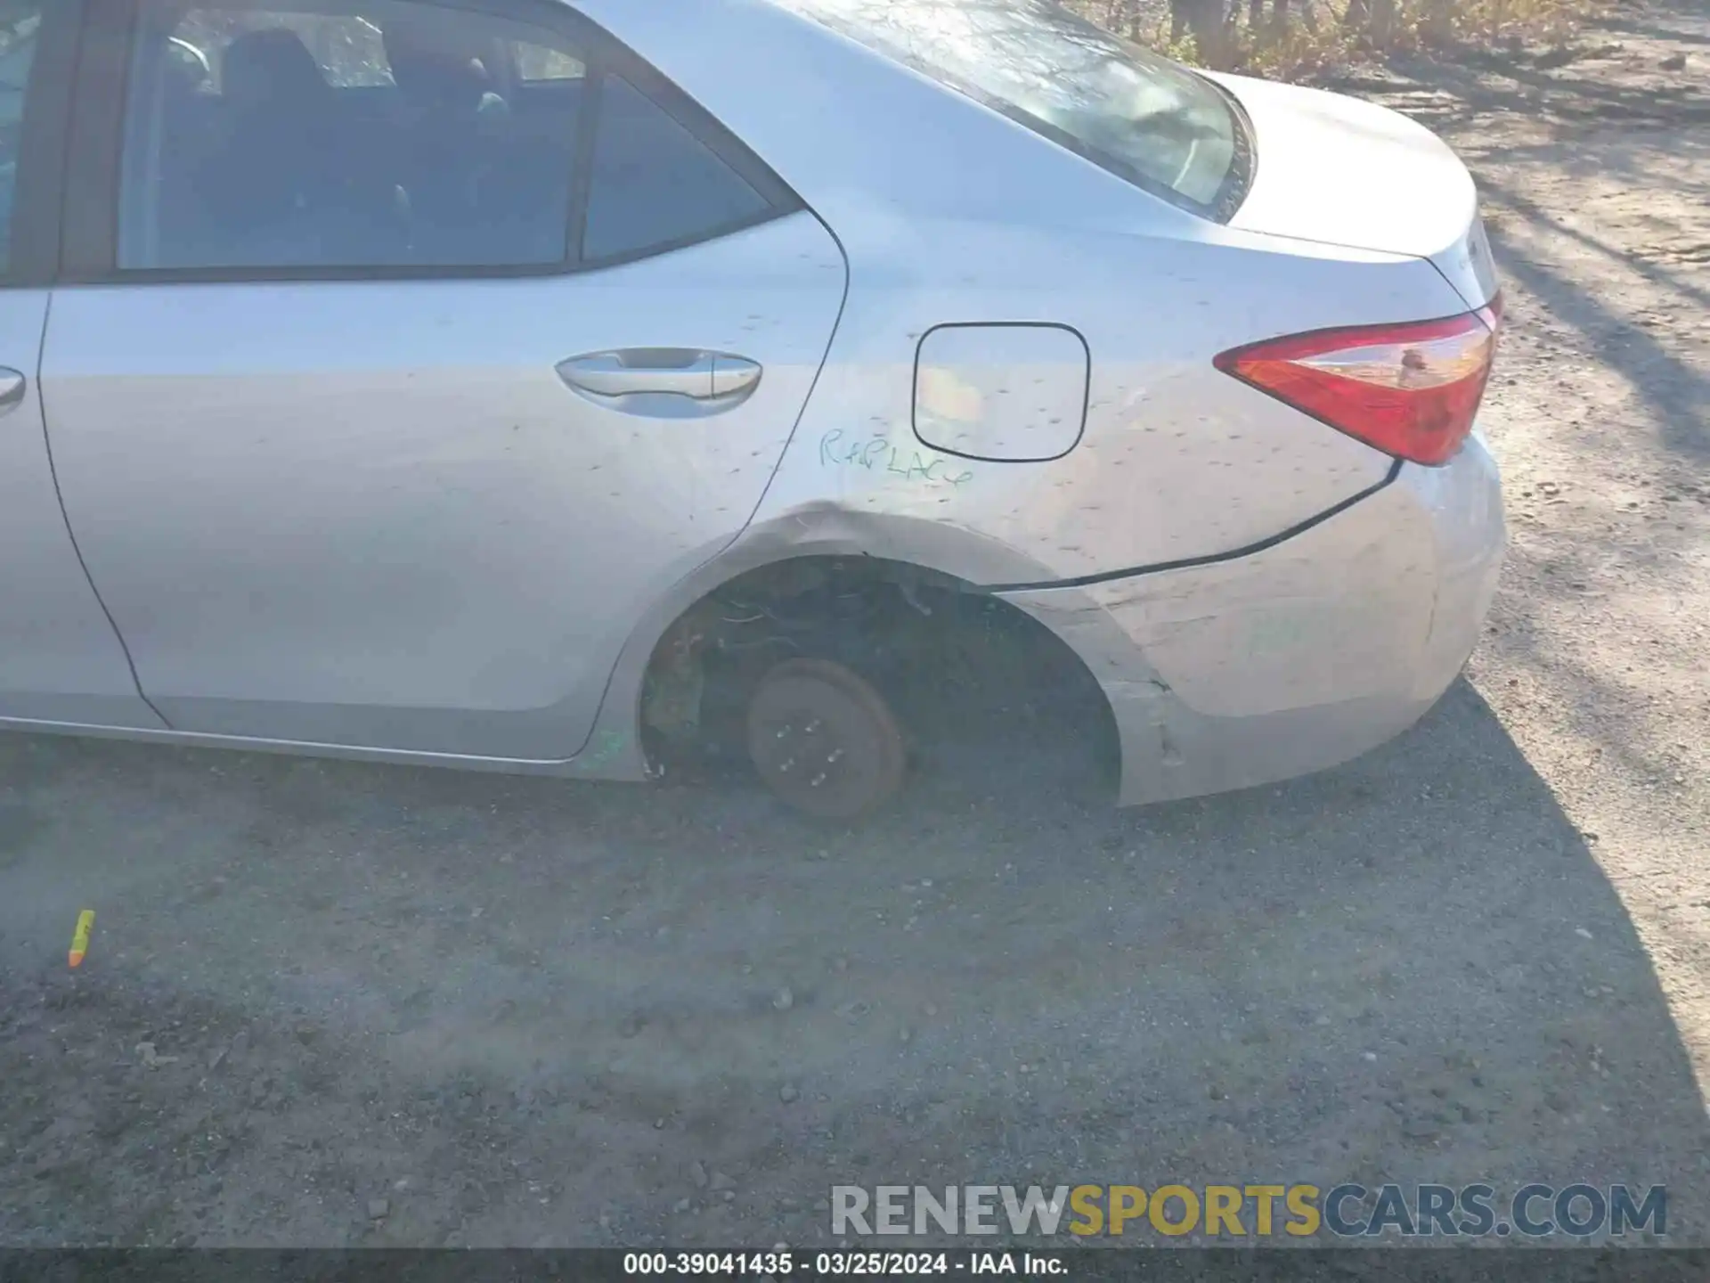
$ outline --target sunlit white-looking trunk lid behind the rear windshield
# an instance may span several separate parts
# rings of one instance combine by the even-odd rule
[[[1424,125],[1322,89],[1214,75],[1252,120],[1253,183],[1231,228],[1430,258],[1467,306],[1496,294],[1472,174]]]

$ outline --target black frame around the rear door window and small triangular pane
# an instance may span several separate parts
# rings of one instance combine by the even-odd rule
[[[672,84],[634,51],[580,12],[557,0],[417,0],[438,9],[455,9],[520,22],[563,34],[585,53],[588,96],[578,113],[571,161],[569,217],[564,257],[552,263],[458,263],[369,267],[118,267],[118,214],[123,183],[125,111],[130,98],[130,68],[144,0],[87,0],[82,56],[74,87],[68,161],[63,185],[63,236],[58,284],[147,286],[147,284],[272,284],[351,281],[511,281],[578,275],[655,258],[675,250],[732,236],[773,219],[805,210],[802,198],[728,128],[699,103]],[[84,0],[77,0],[84,3]],[[581,257],[593,176],[600,89],[607,75],[619,75],[686,128],[766,202],[754,217],[720,224],[691,236],[648,245],[597,260]]]

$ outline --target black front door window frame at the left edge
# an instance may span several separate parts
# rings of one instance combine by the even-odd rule
[[[60,269],[65,195],[65,140],[82,31],[82,0],[48,0],[19,121],[17,178],[12,188],[12,251],[0,289],[43,289]]]

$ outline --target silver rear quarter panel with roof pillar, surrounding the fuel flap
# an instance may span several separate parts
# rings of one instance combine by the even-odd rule
[[[1457,311],[1426,260],[1194,217],[763,0],[583,7],[766,159],[848,258],[843,316],[756,537],[819,542],[833,517],[949,523],[971,535],[952,546],[1009,549],[1007,578],[1041,582],[1240,549],[1387,474],[1387,457],[1211,359],[1279,334]],[[994,322],[1086,339],[1088,423],[1062,458],[959,460],[917,440],[922,335]],[[894,542],[872,551],[932,551]],[[971,559],[927,565],[995,570]]]

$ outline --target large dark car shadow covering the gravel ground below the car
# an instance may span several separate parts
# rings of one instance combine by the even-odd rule
[[[1650,963],[1471,688],[1146,811],[968,753],[834,831],[0,739],[5,1240],[807,1247],[831,1184],[1171,1179],[1666,1182],[1703,1237]]]

